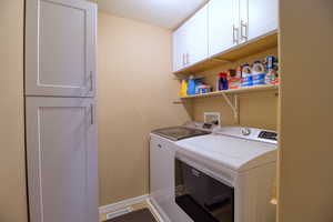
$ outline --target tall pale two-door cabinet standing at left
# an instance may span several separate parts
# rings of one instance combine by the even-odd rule
[[[27,0],[26,137],[31,222],[97,222],[97,6]]]

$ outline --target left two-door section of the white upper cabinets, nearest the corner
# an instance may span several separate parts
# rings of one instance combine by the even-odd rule
[[[173,32],[173,71],[208,58],[208,6]]]

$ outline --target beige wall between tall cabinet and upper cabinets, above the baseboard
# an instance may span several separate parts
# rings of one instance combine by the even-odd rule
[[[189,119],[171,74],[171,33],[99,13],[100,204],[149,193],[149,132]]]

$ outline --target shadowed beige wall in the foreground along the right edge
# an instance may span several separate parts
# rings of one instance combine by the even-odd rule
[[[333,1],[281,0],[279,222],[333,221]]]

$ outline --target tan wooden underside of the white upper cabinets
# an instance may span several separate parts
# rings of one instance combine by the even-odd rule
[[[192,74],[200,71],[204,71],[218,65],[221,65],[222,63],[226,62],[233,62],[239,59],[249,57],[251,54],[259,53],[261,51],[272,49],[274,47],[278,47],[278,32],[271,32],[266,36],[260,37],[258,39],[254,39],[252,41],[239,44],[228,51],[222,52],[221,54],[216,54],[214,57],[211,57],[210,59],[206,59],[204,61],[201,61],[196,64],[193,64],[189,68],[182,69],[178,72],[174,72],[174,74]]]

